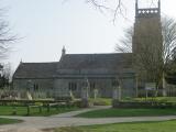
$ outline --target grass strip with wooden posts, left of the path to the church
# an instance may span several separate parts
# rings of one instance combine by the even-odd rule
[[[38,111],[38,108],[31,108],[30,116],[52,116],[52,114],[58,114],[63,112],[74,111],[78,110],[76,107],[61,107],[58,110],[56,108],[51,108],[51,111],[47,112],[47,108],[43,107],[42,112]],[[12,116],[13,114],[13,107],[11,106],[0,106],[0,116]],[[28,108],[26,107],[16,107],[16,116],[26,116],[28,114]]]

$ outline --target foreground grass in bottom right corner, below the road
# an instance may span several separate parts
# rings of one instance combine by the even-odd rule
[[[175,132],[176,120],[59,128],[55,132]]]

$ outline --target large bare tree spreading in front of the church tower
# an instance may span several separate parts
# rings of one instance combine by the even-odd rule
[[[151,24],[151,28],[154,26]],[[146,32],[147,33],[147,32]],[[146,40],[140,47],[140,53],[133,53],[134,68],[140,70],[141,76],[145,76],[147,79],[155,81],[158,86],[163,81],[164,74],[170,68],[169,62],[176,51],[176,22],[170,18],[162,19],[162,35],[163,45],[155,45],[157,42],[150,42]],[[157,34],[154,35],[157,37]],[[116,45],[117,52],[132,53],[132,37],[133,29],[130,28],[125,31],[124,37],[120,41],[120,44]],[[158,41],[152,40],[152,41]],[[148,46],[147,44],[153,45]]]

